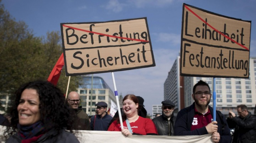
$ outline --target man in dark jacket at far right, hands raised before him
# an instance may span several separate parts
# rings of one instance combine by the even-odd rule
[[[227,118],[229,127],[235,128],[233,143],[256,143],[256,117],[243,104],[237,106],[237,113],[229,111]]]

